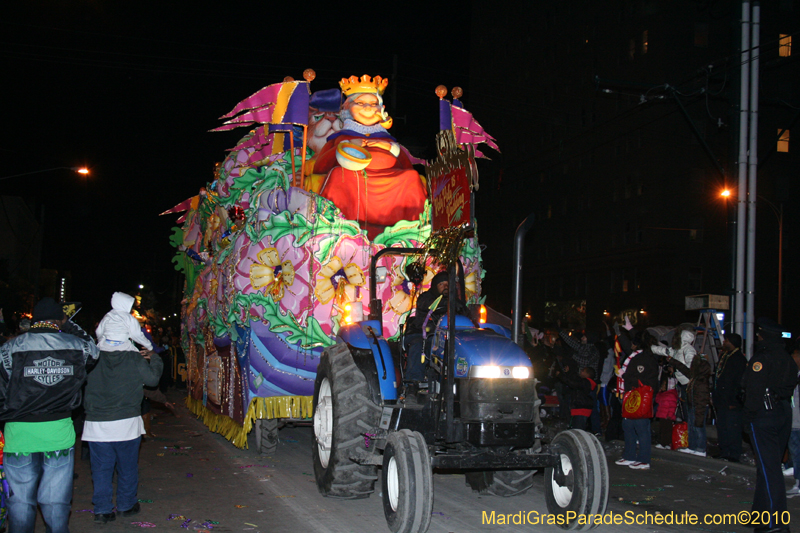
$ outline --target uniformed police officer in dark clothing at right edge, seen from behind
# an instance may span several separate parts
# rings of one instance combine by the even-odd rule
[[[759,318],[758,342],[747,364],[744,386],[744,415],[756,456],[756,489],[753,511],[769,516],[763,528],[769,532],[789,531],[781,521],[786,514],[786,485],[781,471],[783,452],[792,431],[791,397],[797,383],[797,365],[781,340],[783,328],[774,320]]]

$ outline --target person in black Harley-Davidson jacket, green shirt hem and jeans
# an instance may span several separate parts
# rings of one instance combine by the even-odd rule
[[[0,346],[10,531],[33,533],[37,503],[48,531],[69,531],[75,457],[72,410],[81,403],[87,361],[98,355],[92,338],[67,320],[52,298],[36,304],[27,333]]]

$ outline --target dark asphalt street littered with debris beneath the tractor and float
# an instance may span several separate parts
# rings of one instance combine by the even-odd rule
[[[172,392],[180,402],[180,393]],[[155,409],[154,439],[140,452],[139,498],[141,513],[105,525],[93,523],[92,484],[88,460],[77,453],[70,529],[73,532],[172,531],[358,532],[389,531],[383,516],[380,480],[368,499],[341,501],[323,498],[317,491],[311,463],[312,428],[284,428],[272,456],[259,455],[251,432],[249,449],[240,450],[212,433],[180,405],[176,417]],[[621,443],[620,443],[621,444]],[[741,525],[636,525],[648,513],[680,520],[694,513],[748,511],[755,469],[672,451],[654,450],[652,468],[634,471],[613,464],[618,445],[607,445],[611,473],[609,513],[620,515],[621,525],[603,525],[598,531],[748,531]],[[727,468],[725,468],[727,466]],[[724,470],[723,470],[724,469]],[[722,470],[722,472],[720,472]],[[534,488],[513,498],[482,496],[466,486],[463,475],[434,475],[435,500],[432,533],[482,531],[562,531],[553,525],[515,524],[520,517],[535,521],[547,512],[543,476]],[[787,487],[791,480],[787,478]],[[789,500],[791,517],[800,520],[800,498]],[[494,523],[491,522],[494,512]],[[627,514],[626,514],[627,513]],[[503,518],[501,518],[501,516]],[[638,517],[638,518],[637,518]],[[502,523],[505,519],[509,523]],[[794,524],[791,524],[794,525]],[[37,533],[44,531],[41,520]]]

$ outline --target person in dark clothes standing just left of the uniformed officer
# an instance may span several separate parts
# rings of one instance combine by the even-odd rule
[[[742,455],[742,402],[739,391],[747,359],[742,353],[742,337],[726,333],[717,363],[714,384],[714,408],[717,411],[717,434],[721,459],[739,462]]]

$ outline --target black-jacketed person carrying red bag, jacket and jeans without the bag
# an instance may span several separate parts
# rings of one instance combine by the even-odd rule
[[[618,374],[618,378],[625,383],[625,391],[631,391],[642,385],[650,386],[653,394],[658,391],[658,361],[651,350],[651,347],[657,342],[657,339],[646,331],[639,331],[635,334],[631,342],[631,348],[634,351],[626,361],[625,370],[620,369]],[[622,416],[625,449],[622,452],[622,458],[616,464],[628,466],[634,470],[650,469],[650,418],[652,418],[652,414],[650,417],[636,419],[625,418],[624,412]]]

